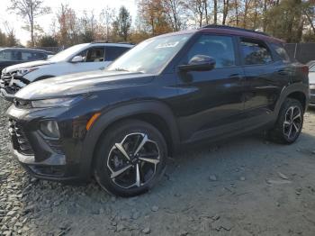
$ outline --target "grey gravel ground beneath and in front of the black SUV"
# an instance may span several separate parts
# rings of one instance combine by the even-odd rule
[[[170,159],[151,192],[116,198],[95,183],[30,177],[9,152],[0,101],[0,235],[311,235],[315,112],[291,146],[259,136]]]

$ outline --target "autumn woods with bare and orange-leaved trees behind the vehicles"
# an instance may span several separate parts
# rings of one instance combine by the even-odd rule
[[[308,0],[138,0],[131,19],[124,6],[117,11],[104,5],[101,14],[78,15],[70,5],[60,5],[51,30],[43,32],[38,16],[51,10],[41,0],[12,0],[7,9],[25,20],[28,46],[71,46],[96,40],[137,43],[166,32],[199,28],[207,24],[238,26],[266,32],[286,42],[315,41],[315,1]],[[19,44],[14,30],[0,32],[0,46]],[[15,29],[16,30],[16,29]]]

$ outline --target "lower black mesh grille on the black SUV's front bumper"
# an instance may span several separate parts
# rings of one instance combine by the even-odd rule
[[[21,153],[25,155],[34,154],[31,149],[31,144],[23,131],[23,127],[19,123],[16,123],[14,120],[9,120],[9,132],[16,138],[17,146]]]

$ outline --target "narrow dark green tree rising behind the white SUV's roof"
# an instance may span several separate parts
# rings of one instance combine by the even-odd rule
[[[119,14],[113,23],[114,30],[122,38],[123,41],[127,41],[130,34],[131,16],[126,7],[121,6]]]

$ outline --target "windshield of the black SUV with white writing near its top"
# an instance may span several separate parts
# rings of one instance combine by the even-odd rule
[[[180,34],[143,41],[115,60],[106,70],[157,74],[173,59],[191,35]]]

